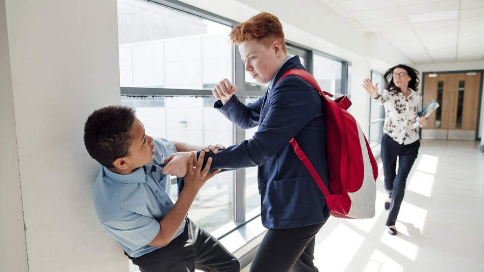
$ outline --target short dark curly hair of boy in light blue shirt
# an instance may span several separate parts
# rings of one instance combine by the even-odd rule
[[[136,120],[135,110],[127,106],[107,106],[94,111],[84,125],[84,145],[99,164],[113,168],[117,158],[130,154]]]

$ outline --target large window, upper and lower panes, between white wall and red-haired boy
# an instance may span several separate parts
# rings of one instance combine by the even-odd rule
[[[118,0],[118,23],[121,103],[136,108],[146,133],[232,145],[234,126],[213,110],[211,92],[220,79],[233,80],[231,25],[141,0]],[[234,176],[212,178],[191,207],[209,232],[234,221]]]

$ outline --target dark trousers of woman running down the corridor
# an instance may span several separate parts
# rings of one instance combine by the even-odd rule
[[[394,226],[405,194],[406,178],[418,155],[420,141],[401,145],[389,135],[384,134],[381,139],[381,162],[385,175],[385,189],[392,199],[387,219],[387,226]],[[396,172],[398,158],[398,172]]]

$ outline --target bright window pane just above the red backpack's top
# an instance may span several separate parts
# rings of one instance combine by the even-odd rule
[[[331,94],[341,94],[342,62],[314,54],[313,75],[321,90]]]

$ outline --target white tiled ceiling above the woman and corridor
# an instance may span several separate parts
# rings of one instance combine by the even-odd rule
[[[415,64],[484,60],[484,0],[320,0]]]

